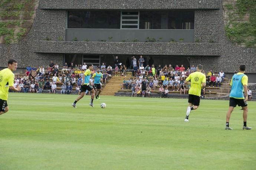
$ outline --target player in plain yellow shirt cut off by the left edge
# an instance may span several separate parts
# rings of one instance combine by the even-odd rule
[[[17,69],[17,61],[9,59],[8,68],[0,71],[0,115],[8,112],[9,107],[7,105],[9,89],[12,91],[21,91],[20,86],[15,88],[14,85],[14,74],[13,71]]]

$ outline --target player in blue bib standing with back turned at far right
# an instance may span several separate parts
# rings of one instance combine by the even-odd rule
[[[248,127],[246,125],[247,121],[247,113],[248,113],[248,106],[247,106],[247,100],[248,100],[248,91],[247,91],[247,85],[248,85],[248,77],[244,74],[245,71],[245,65],[241,64],[239,66],[239,73],[234,74],[230,85],[231,85],[231,92],[229,95],[229,110],[227,111],[226,116],[226,130],[233,130],[229,127],[229,119],[230,115],[234,110],[234,107],[236,105],[242,106],[243,109],[243,129],[244,130],[250,130],[252,128]],[[244,91],[244,95],[243,95]]]

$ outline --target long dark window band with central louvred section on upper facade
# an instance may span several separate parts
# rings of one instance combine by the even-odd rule
[[[194,29],[194,11],[69,11],[68,28]]]

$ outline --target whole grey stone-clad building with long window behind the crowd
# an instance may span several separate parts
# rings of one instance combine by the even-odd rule
[[[39,0],[32,27],[16,44],[0,44],[0,67],[50,61],[114,65],[143,55],[146,64],[190,67],[233,74],[247,65],[255,82],[256,52],[232,43],[225,33],[224,0]],[[254,77],[254,79],[253,79]]]

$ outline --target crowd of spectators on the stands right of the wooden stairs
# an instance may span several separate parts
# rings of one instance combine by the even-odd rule
[[[175,65],[174,67],[169,64],[162,65],[146,65],[144,67],[144,59],[140,56],[137,59],[132,57],[132,76],[136,77],[131,80],[123,81],[121,84],[122,89],[131,89],[132,95],[142,95],[142,97],[148,94],[150,97],[151,91],[156,91],[161,97],[166,98],[170,91],[178,91],[180,94],[187,94],[190,85],[184,84],[185,79],[193,72],[196,71],[196,67],[192,65],[191,68],[185,68],[184,65]],[[208,87],[221,86],[224,81],[225,74],[221,70],[219,73],[215,74],[212,70],[209,72],[202,71],[206,75],[206,84]],[[121,74],[121,73],[120,73]],[[115,74],[116,75],[116,74]],[[122,74],[121,74],[122,76]],[[149,79],[151,77],[151,79]],[[149,81],[150,80],[150,81]],[[204,96],[205,89],[202,89],[202,96]]]

